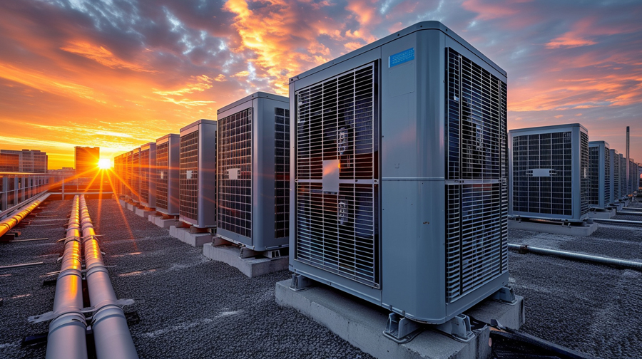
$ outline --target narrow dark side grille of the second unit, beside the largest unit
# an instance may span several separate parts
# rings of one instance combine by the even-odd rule
[[[274,109],[274,237],[290,233],[290,110]]]

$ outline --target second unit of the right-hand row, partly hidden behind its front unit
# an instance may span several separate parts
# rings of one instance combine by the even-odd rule
[[[611,151],[604,141],[588,142],[588,207],[606,209],[611,204]]]

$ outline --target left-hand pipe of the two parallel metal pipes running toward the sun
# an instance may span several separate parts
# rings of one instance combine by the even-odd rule
[[[47,335],[47,359],[87,358],[78,206],[78,196],[73,197],[61,271],[56,281],[54,320],[49,323]]]

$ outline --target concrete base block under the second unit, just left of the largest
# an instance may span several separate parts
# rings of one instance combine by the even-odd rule
[[[238,246],[214,246],[211,242],[203,245],[203,256],[233,266],[246,276],[253,278],[263,274],[287,269],[289,256],[278,258],[240,258]]]

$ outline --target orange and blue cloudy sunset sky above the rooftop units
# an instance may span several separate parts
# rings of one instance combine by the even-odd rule
[[[418,21],[508,72],[509,128],[581,123],[642,162],[642,1],[0,1],[0,148],[113,157]]]

